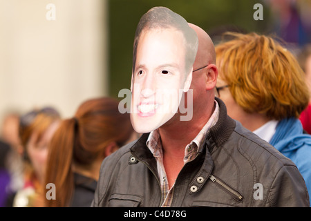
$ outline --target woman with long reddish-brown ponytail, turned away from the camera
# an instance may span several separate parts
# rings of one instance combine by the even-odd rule
[[[115,99],[90,99],[75,116],[64,119],[48,153],[46,184],[55,184],[56,199],[46,206],[90,206],[104,157],[133,135],[128,113],[118,111]]]

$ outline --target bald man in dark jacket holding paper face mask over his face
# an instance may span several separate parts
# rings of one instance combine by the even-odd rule
[[[104,160],[93,206],[309,205],[296,166],[215,98],[215,57],[207,33],[168,8],[142,16],[131,122],[143,135]],[[178,107],[191,104],[182,120]]]

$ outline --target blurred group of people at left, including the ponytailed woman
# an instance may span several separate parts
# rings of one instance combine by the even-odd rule
[[[89,99],[70,119],[50,106],[8,114],[0,142],[0,206],[89,206],[104,157],[137,138],[118,104]],[[46,199],[50,183],[58,200]]]

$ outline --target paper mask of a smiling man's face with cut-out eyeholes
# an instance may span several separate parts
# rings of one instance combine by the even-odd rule
[[[149,12],[154,10],[164,10],[169,17],[181,19],[175,26],[173,23],[158,24],[160,21],[157,20],[155,28],[150,28],[152,24],[148,21],[148,27],[142,28],[135,37],[131,122],[138,133],[149,133],[170,119],[178,118],[174,116],[178,115],[183,93],[189,90],[198,48],[196,33],[185,19],[167,8],[157,7]],[[182,26],[186,30],[179,30]],[[190,33],[185,34],[185,31]],[[194,41],[194,52],[189,52],[187,45],[191,42],[187,41]],[[189,57],[189,54],[192,56]]]

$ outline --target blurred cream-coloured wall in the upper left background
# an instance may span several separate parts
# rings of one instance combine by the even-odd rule
[[[107,1],[0,0],[0,118],[108,93]]]

